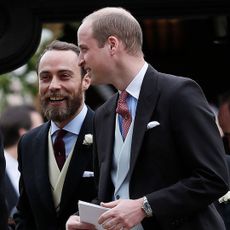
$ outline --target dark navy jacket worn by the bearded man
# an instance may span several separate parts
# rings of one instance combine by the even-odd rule
[[[48,130],[50,122],[26,133],[18,147],[20,197],[14,215],[16,229],[65,229],[70,215],[78,210],[78,200],[90,201],[96,195],[92,170],[92,146],[83,145],[85,134],[92,133],[93,111],[88,110],[77,139],[64,182],[60,210],[56,213],[48,173]]]

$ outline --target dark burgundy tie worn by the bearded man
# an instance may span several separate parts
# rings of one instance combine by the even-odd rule
[[[65,164],[65,142],[63,141],[63,137],[66,135],[67,131],[63,129],[59,129],[57,131],[57,137],[54,141],[54,155],[57,161],[57,165],[61,170],[63,165]]]

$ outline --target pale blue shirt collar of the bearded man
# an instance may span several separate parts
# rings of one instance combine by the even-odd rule
[[[75,116],[73,118],[73,120],[71,120],[68,124],[66,124],[63,129],[70,132],[70,133],[73,133],[73,134],[76,134],[78,135],[80,133],[80,129],[81,129],[81,126],[82,126],[82,123],[85,119],[85,116],[87,114],[87,106],[84,104],[81,112]],[[59,127],[57,127],[57,125],[51,121],[51,136],[59,129]]]

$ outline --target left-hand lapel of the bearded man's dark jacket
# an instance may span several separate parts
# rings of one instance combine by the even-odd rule
[[[35,141],[35,152],[33,153],[34,167],[35,169],[35,183],[40,194],[43,205],[55,215],[55,208],[53,204],[53,197],[51,186],[49,182],[49,170],[48,170],[48,132],[50,128],[50,122],[45,123],[37,136]]]

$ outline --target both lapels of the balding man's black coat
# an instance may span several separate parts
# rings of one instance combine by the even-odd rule
[[[140,96],[137,104],[136,117],[133,127],[133,137],[131,144],[131,158],[130,158],[130,175],[132,175],[138,154],[141,150],[144,135],[147,130],[147,124],[151,119],[154,112],[160,91],[158,89],[158,76],[157,71],[151,66],[148,67],[147,72],[144,76],[143,83],[141,86]],[[108,191],[108,186],[111,181],[110,169],[113,157],[113,146],[114,146],[114,133],[115,133],[115,118],[116,118],[116,104],[118,99],[118,93],[115,94],[103,109],[104,113],[101,112],[99,124],[103,124],[103,138],[98,138],[98,149],[100,153],[101,167],[100,173],[103,174],[101,177],[100,185],[106,185],[101,188],[101,193],[105,194],[102,197],[108,197],[111,199]],[[97,125],[97,124],[96,124]],[[102,147],[101,147],[102,146]],[[109,154],[108,154],[109,153]],[[104,160],[106,159],[106,160]],[[103,180],[103,181],[102,181]]]

